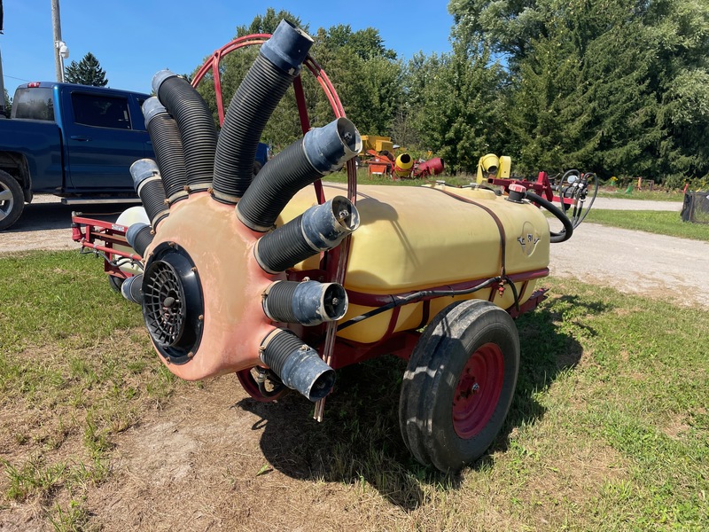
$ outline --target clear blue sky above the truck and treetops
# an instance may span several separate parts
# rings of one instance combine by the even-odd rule
[[[12,96],[20,83],[55,79],[51,0],[4,0],[3,4],[0,53],[5,89]],[[150,92],[152,74],[162,68],[177,74],[191,72],[228,43],[237,26],[249,24],[268,7],[299,16],[312,33],[336,24],[349,24],[353,30],[376,27],[386,47],[403,59],[417,51],[450,50],[453,18],[448,3],[440,0],[60,0],[62,39],[70,51],[65,65],[90,51],[111,87]],[[327,71],[327,65],[323,68]]]

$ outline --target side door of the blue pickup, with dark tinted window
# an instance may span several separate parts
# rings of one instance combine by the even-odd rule
[[[148,135],[144,129],[134,129],[130,97],[81,89],[65,94],[64,135],[71,184],[67,192],[135,193],[129,168],[144,157]]]

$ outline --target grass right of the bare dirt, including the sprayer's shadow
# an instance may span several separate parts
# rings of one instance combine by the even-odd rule
[[[509,419],[474,467],[447,476],[409,456],[396,409],[404,364],[386,358],[340,372],[327,423],[286,442],[292,456],[315,453],[313,478],[406,509],[395,529],[480,529],[481,515],[495,518],[483,529],[709,527],[709,361],[699,340],[709,313],[544,284],[549,300],[517,322]]]

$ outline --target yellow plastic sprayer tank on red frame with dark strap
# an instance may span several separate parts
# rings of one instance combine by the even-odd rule
[[[347,195],[344,184],[323,184],[328,199]],[[471,203],[472,202],[472,203]],[[308,187],[285,207],[277,224],[285,223],[315,205]],[[502,271],[501,231],[505,241],[507,275],[536,272],[549,266],[549,224],[540,209],[529,203],[514,203],[484,189],[446,185],[422,187],[358,186],[356,207],[360,227],[351,239],[345,287],[348,293],[395,294],[494,278]],[[492,214],[491,214],[492,213]],[[318,267],[319,257],[296,269]],[[543,275],[543,273],[542,273]],[[534,291],[534,280],[516,283],[520,302]],[[373,307],[353,304],[347,316],[358,316]],[[432,300],[401,307],[393,332],[425,325],[443,307],[456,299],[492,297],[507,309],[514,303],[508,287],[502,296],[491,289],[462,297]],[[339,336],[363,343],[383,339],[393,311],[387,311],[339,332]]]

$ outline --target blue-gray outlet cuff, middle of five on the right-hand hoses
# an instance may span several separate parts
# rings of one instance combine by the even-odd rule
[[[360,226],[360,214],[352,201],[335,196],[302,215],[301,227],[308,244],[316,250],[332,249]]]

